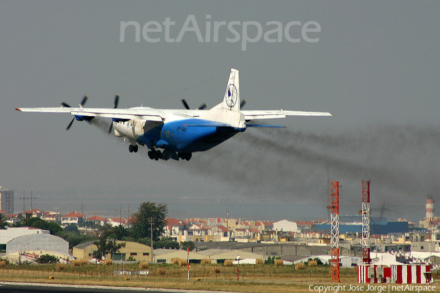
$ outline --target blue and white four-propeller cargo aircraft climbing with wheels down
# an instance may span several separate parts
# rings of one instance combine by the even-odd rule
[[[251,120],[285,118],[286,116],[331,116],[328,112],[303,112],[286,110],[240,110],[239,71],[231,69],[223,102],[209,110],[206,104],[191,110],[185,100],[186,109],[154,109],[133,107],[118,109],[118,96],[113,108],[85,108],[85,96],[79,108],[62,103],[61,107],[16,108],[22,112],[70,113],[72,122],[91,121],[95,117],[112,119],[114,134],[127,138],[130,152],[137,152],[138,145],[147,146],[152,160],[189,161],[192,153],[208,150],[219,145],[247,127],[284,127],[249,123]],[[162,151],[160,150],[162,149]]]

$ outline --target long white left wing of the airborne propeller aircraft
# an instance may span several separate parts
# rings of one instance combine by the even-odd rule
[[[69,113],[75,116],[105,117],[114,119],[143,119],[148,121],[164,122],[173,120],[171,117],[198,117],[200,110],[168,110],[149,107],[135,107],[129,109],[112,108],[72,108],[72,107],[47,107],[47,108],[16,108],[22,112],[44,113]]]

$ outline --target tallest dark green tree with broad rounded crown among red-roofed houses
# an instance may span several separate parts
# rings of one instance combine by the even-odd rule
[[[166,204],[158,204],[157,206],[150,202],[141,204],[139,211],[133,215],[133,237],[136,239],[151,237],[153,225],[153,240],[157,241],[166,226],[167,214]]]

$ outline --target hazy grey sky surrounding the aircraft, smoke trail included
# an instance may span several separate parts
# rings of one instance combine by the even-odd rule
[[[48,3],[1,4],[0,185],[15,190],[17,212],[23,190],[33,190],[34,207],[83,204],[89,216],[153,201],[172,217],[225,217],[228,209],[236,218],[306,220],[327,218],[329,180],[341,184],[340,213],[357,213],[368,179],[374,216],[415,221],[427,194],[440,203],[438,1]],[[176,42],[191,18],[201,40],[188,29]],[[139,23],[139,42],[134,26],[120,42],[121,21]],[[216,21],[226,25],[214,42]],[[268,21],[283,25],[280,36],[264,38],[276,27]],[[308,21],[319,23],[306,35],[318,42],[302,35]],[[148,31],[156,24],[160,32]],[[158,42],[146,41],[143,28]],[[244,50],[245,32],[256,42]],[[248,129],[189,162],[156,162],[86,122],[66,131],[70,115],[14,110],[77,105],[84,95],[87,106],[111,107],[115,94],[120,107],[183,108],[182,98],[212,107],[231,67],[245,109],[333,117],[278,120],[288,128]]]

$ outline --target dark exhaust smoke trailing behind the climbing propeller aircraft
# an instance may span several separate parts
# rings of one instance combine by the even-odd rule
[[[91,122],[108,133],[110,123],[104,119]],[[145,157],[147,151],[139,148]],[[440,131],[429,126],[376,126],[330,136],[248,129],[208,151],[194,153],[189,162],[165,164],[214,177],[250,198],[323,207],[328,205],[328,180],[336,180],[342,185],[341,209],[347,213],[360,209],[361,181],[370,179],[373,210],[381,209],[383,214],[386,203],[391,215],[411,218],[417,210],[413,219],[419,219],[426,195],[439,198]]]

